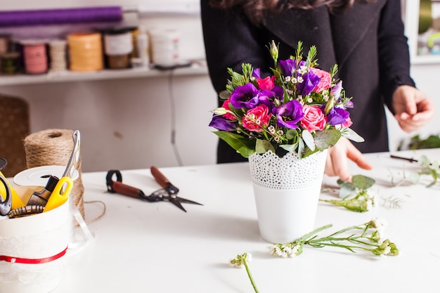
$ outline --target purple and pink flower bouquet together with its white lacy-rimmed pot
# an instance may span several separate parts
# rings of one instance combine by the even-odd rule
[[[271,74],[242,64],[228,68],[231,80],[214,110],[214,133],[249,158],[261,237],[290,242],[313,230],[327,150],[341,136],[363,141],[352,131],[342,82],[316,66],[316,47],[303,60],[302,42],[295,56],[278,62],[272,41]]]

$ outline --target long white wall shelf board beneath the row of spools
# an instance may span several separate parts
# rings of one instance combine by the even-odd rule
[[[141,77],[167,77],[171,70],[156,70],[148,68],[128,68],[123,70],[101,70],[97,72],[49,72],[48,74],[0,75],[0,86],[21,84],[47,84],[57,82],[89,82],[105,79],[130,79]],[[174,69],[175,76],[203,75],[208,70],[205,66],[193,65]]]

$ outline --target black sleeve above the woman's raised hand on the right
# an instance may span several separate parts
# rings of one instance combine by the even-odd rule
[[[382,8],[377,35],[380,88],[387,107],[394,114],[392,95],[396,88],[400,85],[415,86],[410,77],[410,56],[401,18],[401,0],[388,0]]]

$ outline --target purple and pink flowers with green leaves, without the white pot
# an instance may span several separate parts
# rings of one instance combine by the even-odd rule
[[[361,142],[351,130],[342,81],[335,79],[337,65],[330,72],[318,69],[316,46],[306,60],[302,42],[296,55],[278,61],[278,46],[269,46],[273,58],[272,74],[261,76],[260,68],[242,64],[242,72],[228,68],[231,80],[220,93],[222,107],[213,112],[209,126],[243,157],[268,150],[283,156],[296,152],[299,158],[335,145],[341,136]]]

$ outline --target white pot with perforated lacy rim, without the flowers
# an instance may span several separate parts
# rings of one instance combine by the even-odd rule
[[[268,151],[249,157],[261,237],[271,243],[297,240],[314,228],[327,150],[299,159]]]

